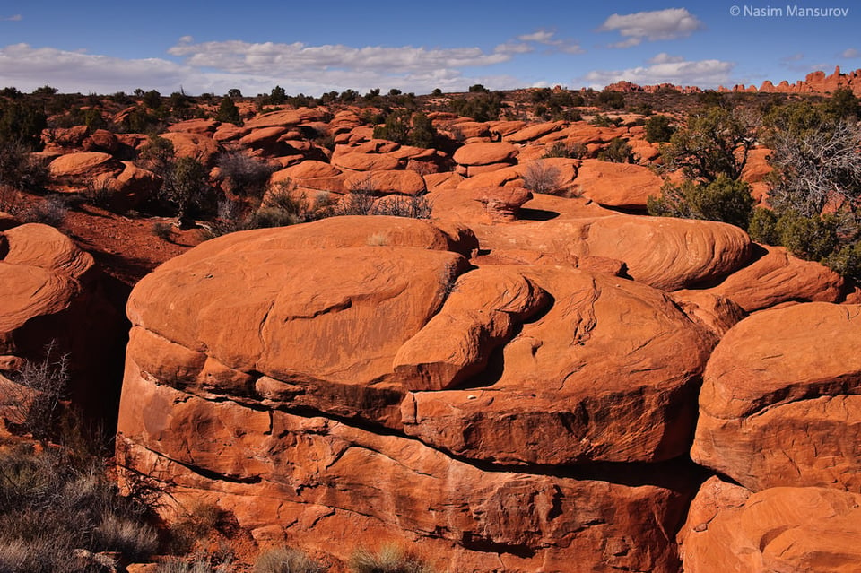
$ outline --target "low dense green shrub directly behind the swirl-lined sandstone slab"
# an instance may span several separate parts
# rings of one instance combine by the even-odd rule
[[[753,211],[751,187],[721,175],[711,183],[669,181],[662,195],[648,198],[648,213],[665,217],[723,221],[747,229]]]

